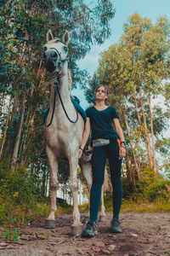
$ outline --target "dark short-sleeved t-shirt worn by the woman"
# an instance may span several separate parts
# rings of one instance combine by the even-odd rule
[[[92,129],[92,139],[119,139],[116,131],[113,130],[111,125],[113,119],[118,119],[118,113],[116,108],[108,107],[104,110],[97,110],[96,108],[88,108],[86,114],[90,119],[90,125]]]

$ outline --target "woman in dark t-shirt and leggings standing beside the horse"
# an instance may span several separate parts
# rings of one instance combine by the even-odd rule
[[[119,212],[122,204],[121,166],[122,158],[126,155],[126,143],[116,108],[105,105],[108,94],[109,90],[105,85],[98,86],[95,92],[95,105],[86,110],[87,122],[82,137],[82,144],[79,147],[79,157],[81,157],[90,132],[92,132],[94,146],[92,154],[93,184],[90,191],[90,219],[86,229],[82,231],[83,237],[98,235],[96,224],[107,158],[110,164],[113,187],[111,232],[122,233],[119,221]],[[115,125],[115,130],[113,129],[112,122]]]

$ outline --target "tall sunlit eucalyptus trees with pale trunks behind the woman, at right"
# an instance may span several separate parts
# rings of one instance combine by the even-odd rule
[[[96,84],[111,90],[110,102],[116,105],[127,142],[127,175],[140,179],[142,170],[160,169],[156,162],[156,142],[162,141],[169,112],[169,29],[166,17],[155,25],[138,14],[124,24],[119,44],[113,44],[100,56],[99,67],[87,90],[88,101]],[[152,107],[157,96],[164,99],[164,108]],[[159,124],[159,125],[158,125]],[[160,145],[160,143],[159,143]],[[167,157],[164,165],[169,165]],[[133,172],[134,170],[134,172]]]

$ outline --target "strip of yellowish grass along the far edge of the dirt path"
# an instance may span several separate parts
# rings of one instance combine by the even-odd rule
[[[106,211],[112,212],[112,200],[111,197],[105,197],[105,209]],[[28,208],[26,206],[11,206],[10,211],[9,207],[8,216],[0,218],[1,224],[10,225],[14,223],[19,224],[28,224],[33,221],[35,218],[46,218],[50,211],[50,203],[37,202],[35,207]],[[88,212],[88,203],[84,203],[82,206],[79,206],[80,212]],[[63,205],[57,206],[57,211],[55,212],[55,217],[58,217],[63,212],[72,212],[72,206]],[[132,200],[123,200],[121,212],[170,212],[170,200],[158,199],[152,203],[146,201],[132,201]]]

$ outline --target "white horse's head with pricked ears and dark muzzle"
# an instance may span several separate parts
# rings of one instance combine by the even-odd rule
[[[67,45],[70,41],[70,34],[65,32],[63,40],[55,39],[52,32],[49,30],[47,33],[48,43],[43,46],[43,61],[45,67],[50,73],[60,72],[61,68],[68,60]]]

